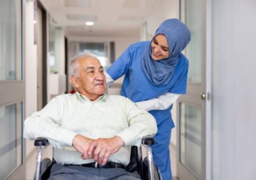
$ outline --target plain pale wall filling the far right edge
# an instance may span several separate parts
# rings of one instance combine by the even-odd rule
[[[212,179],[256,179],[256,1],[212,1]]]

